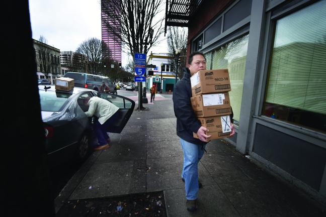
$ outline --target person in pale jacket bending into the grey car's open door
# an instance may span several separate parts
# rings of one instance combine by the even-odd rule
[[[84,103],[89,105],[89,110],[85,112],[88,117],[96,116],[98,120],[94,122],[94,129],[98,138],[98,146],[95,150],[103,150],[110,148],[110,137],[106,128],[118,120],[119,107],[112,104],[108,100],[93,96],[84,98]]]

